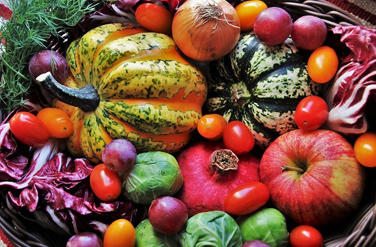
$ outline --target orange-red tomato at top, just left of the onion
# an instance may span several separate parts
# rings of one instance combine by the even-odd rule
[[[172,35],[173,14],[156,4],[142,4],[135,12],[136,21],[144,28],[155,33]]]

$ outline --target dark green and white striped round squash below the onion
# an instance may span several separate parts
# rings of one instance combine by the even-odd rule
[[[244,122],[263,148],[297,128],[297,104],[320,89],[308,76],[307,57],[290,38],[267,46],[253,33],[243,34],[229,54],[211,64],[209,74],[208,111]]]

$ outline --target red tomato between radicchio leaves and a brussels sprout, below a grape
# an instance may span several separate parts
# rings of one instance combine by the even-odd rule
[[[99,164],[91,171],[90,187],[100,200],[112,202],[120,196],[122,181],[118,172]]]

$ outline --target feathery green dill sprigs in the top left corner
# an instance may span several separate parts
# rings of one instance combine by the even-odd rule
[[[69,30],[98,1],[92,0],[5,0],[12,17],[0,27],[0,104],[6,113],[25,101],[32,80],[28,63],[33,54],[47,49],[47,40],[61,37],[61,29]]]

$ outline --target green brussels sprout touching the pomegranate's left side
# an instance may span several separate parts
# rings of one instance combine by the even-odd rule
[[[150,205],[158,197],[173,196],[183,185],[178,161],[160,151],[137,155],[136,163],[122,178],[125,197],[143,205]]]

